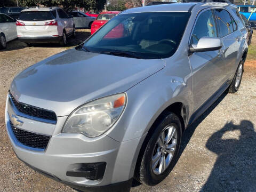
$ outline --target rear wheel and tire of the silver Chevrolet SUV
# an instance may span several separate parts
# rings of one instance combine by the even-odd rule
[[[243,73],[244,73],[244,59],[242,58],[241,61],[239,62],[237,69],[236,69],[236,73],[233,78],[233,81],[229,87],[229,93],[235,93],[238,91],[238,89],[241,85]]]

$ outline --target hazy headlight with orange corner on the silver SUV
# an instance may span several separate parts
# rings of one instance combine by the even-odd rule
[[[126,105],[124,93],[97,99],[77,108],[68,117],[62,132],[97,137],[113,126]]]

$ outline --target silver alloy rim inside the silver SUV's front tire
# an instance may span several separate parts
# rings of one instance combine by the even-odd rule
[[[165,127],[159,135],[153,155],[151,168],[155,174],[163,173],[170,165],[177,145],[177,130],[173,125]]]

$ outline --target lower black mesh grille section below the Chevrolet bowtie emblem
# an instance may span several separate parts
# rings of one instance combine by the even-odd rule
[[[15,138],[23,145],[38,149],[45,149],[47,147],[50,140],[49,136],[24,131],[12,124],[11,127]]]

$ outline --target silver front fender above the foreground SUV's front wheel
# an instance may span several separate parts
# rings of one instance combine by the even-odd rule
[[[182,102],[189,113],[188,103],[192,102],[190,87],[190,77],[170,77],[165,68],[158,71],[126,91],[126,108],[108,136],[120,142],[142,137],[163,110],[175,102]]]

